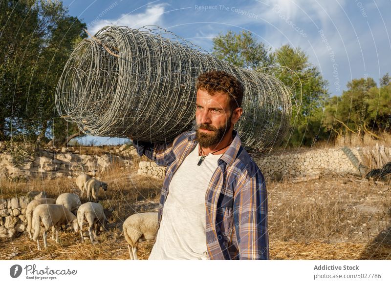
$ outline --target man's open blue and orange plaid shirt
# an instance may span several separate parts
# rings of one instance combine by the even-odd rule
[[[205,194],[208,258],[267,260],[266,184],[261,170],[241,145],[237,131],[233,135],[233,142],[217,161]],[[159,226],[171,179],[197,143],[195,130],[180,134],[170,143],[133,141],[139,156],[144,154],[156,164],[167,166],[160,195]]]

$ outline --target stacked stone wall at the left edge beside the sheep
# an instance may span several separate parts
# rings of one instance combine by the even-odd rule
[[[13,238],[27,227],[27,196],[0,199],[0,238]]]

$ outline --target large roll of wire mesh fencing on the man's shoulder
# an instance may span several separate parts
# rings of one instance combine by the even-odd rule
[[[169,142],[195,125],[195,83],[224,70],[244,85],[235,124],[249,150],[271,149],[288,132],[291,95],[275,77],[230,65],[159,27],[107,26],[72,52],[56,107],[88,135]]]

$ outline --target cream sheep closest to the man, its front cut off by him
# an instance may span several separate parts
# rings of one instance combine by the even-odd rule
[[[125,240],[128,242],[130,260],[137,260],[139,240],[156,239],[158,229],[157,212],[133,214],[125,220],[122,228]]]

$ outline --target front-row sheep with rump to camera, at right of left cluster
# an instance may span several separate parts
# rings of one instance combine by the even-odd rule
[[[94,243],[94,237],[97,238],[96,234],[98,231],[98,226],[100,225],[103,229],[106,229],[106,224],[109,223],[105,212],[103,211],[103,207],[99,203],[93,203],[93,202],[87,202],[82,205],[80,205],[79,209],[77,210],[77,222],[79,223],[80,227],[80,234],[82,236],[82,242],[83,242],[83,221],[84,218],[87,219],[87,222],[89,224],[88,227],[88,233],[89,233],[89,239],[91,243]],[[95,232],[92,233],[92,228],[95,225]]]

